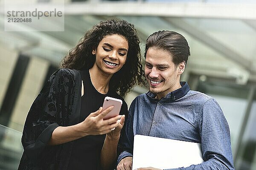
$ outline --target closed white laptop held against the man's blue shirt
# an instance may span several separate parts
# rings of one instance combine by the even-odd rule
[[[132,169],[171,169],[202,163],[201,144],[152,136],[135,135]]]

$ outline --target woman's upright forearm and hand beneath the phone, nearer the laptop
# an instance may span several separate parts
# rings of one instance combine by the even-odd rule
[[[109,170],[116,162],[116,148],[120,137],[120,131],[125,122],[125,115],[122,115],[120,121],[117,121],[119,125],[112,130],[111,133],[107,133],[105,142],[101,151],[101,165],[103,170]]]

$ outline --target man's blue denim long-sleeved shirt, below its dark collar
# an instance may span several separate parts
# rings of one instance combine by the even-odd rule
[[[132,156],[136,134],[201,143],[204,162],[172,170],[234,170],[227,120],[211,96],[186,82],[160,100],[148,92],[131,103],[119,142],[121,159]],[[154,155],[152,155],[154,156]]]

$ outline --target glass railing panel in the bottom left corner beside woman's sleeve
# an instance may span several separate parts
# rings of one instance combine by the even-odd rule
[[[0,125],[0,170],[17,170],[23,153],[22,133]]]

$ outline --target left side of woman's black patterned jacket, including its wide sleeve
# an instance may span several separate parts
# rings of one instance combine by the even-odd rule
[[[61,68],[33,102],[23,129],[24,152],[18,170],[65,170],[73,142],[49,146],[53,130],[79,122],[81,74]],[[79,106],[79,107],[78,107]]]

